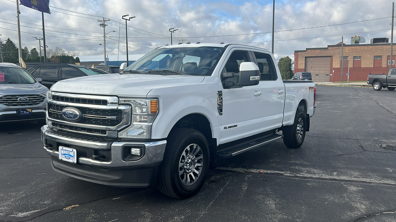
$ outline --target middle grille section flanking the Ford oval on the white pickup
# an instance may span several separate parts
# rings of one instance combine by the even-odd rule
[[[65,121],[61,114],[65,107],[68,106],[48,103],[48,116],[51,119]],[[77,123],[98,126],[117,126],[122,121],[122,110],[120,109],[76,108],[80,110],[83,115],[82,119]]]

